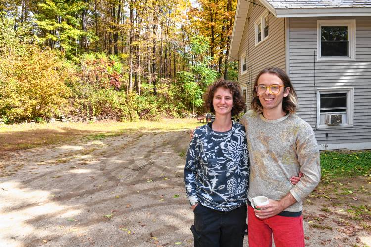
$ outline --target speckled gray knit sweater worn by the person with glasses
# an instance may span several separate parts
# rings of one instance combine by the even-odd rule
[[[320,159],[311,126],[288,114],[277,120],[248,111],[241,119],[246,128],[250,154],[250,186],[248,198],[266,196],[280,200],[288,192],[298,201],[285,211],[300,212],[302,200],[320,181]],[[304,175],[295,186],[289,179]]]

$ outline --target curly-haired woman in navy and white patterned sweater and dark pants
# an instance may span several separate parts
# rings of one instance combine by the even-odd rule
[[[245,127],[231,116],[245,101],[236,82],[220,79],[208,88],[205,105],[215,120],[194,131],[184,168],[194,246],[242,247],[250,165]]]

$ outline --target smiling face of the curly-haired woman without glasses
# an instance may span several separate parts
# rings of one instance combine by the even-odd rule
[[[213,106],[215,115],[229,115],[233,107],[233,95],[230,89],[218,87],[214,93]]]

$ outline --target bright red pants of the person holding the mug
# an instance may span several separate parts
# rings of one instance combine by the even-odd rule
[[[276,247],[304,247],[303,215],[273,216],[259,219],[248,206],[249,247],[271,247],[272,233]]]

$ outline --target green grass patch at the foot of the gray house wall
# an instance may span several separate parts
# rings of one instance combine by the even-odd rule
[[[321,175],[326,178],[371,176],[371,152],[340,153],[326,151],[320,154]]]

